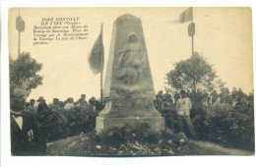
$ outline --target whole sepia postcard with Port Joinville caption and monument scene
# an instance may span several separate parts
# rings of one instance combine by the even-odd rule
[[[248,7],[10,8],[13,156],[254,155]]]

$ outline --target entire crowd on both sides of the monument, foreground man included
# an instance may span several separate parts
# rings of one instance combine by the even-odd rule
[[[224,93],[224,91],[218,94],[217,91],[213,91],[213,93],[209,94],[206,90],[201,91],[200,89],[192,92],[189,90],[181,90],[180,92],[175,91],[172,94],[169,92],[163,94],[160,90],[156,95],[154,103],[165,120],[165,128],[173,130],[174,132],[184,133],[188,137],[196,139],[198,130],[195,129],[195,127],[197,127],[195,124],[198,122],[202,123],[206,119],[206,109],[208,105],[227,103],[233,105],[234,109],[239,109],[246,105],[243,94],[242,91],[235,91],[231,94]],[[249,96],[247,99],[249,99]],[[247,100],[247,102],[248,101],[250,100]],[[253,100],[251,101],[253,102]],[[50,115],[49,113],[57,113],[55,115],[60,116],[62,115],[61,113],[65,113],[66,118],[69,118],[69,113],[78,112],[81,115],[76,114],[76,117],[77,119],[81,119],[79,120],[80,122],[77,120],[74,121],[74,119],[73,121],[75,123],[79,122],[79,126],[85,129],[90,122],[83,120],[84,117],[90,115],[88,112],[93,113],[92,117],[86,119],[94,119],[91,126],[91,128],[94,128],[96,116],[98,112],[103,109],[103,105],[101,105],[99,100],[96,100],[95,97],[91,97],[89,102],[87,102],[86,94],[81,94],[81,97],[77,101],[74,101],[73,97],[69,97],[65,101],[53,98],[52,103],[47,104],[46,100],[40,96],[37,100],[31,99],[30,102],[26,103],[24,89],[19,85],[11,86],[10,103],[12,130],[11,148],[12,154],[14,155],[43,155],[46,153],[47,140],[45,132],[51,131],[52,125],[48,125],[53,124],[53,121],[47,116]],[[84,114],[86,113],[86,115],[83,115],[83,112]],[[48,126],[44,130],[43,126],[40,126],[43,122],[46,127]],[[65,124],[69,124],[70,122],[72,121],[68,120]],[[61,128],[65,127],[59,125],[58,122],[54,124]],[[70,127],[72,127],[72,125]],[[74,129],[77,128],[76,126],[74,127]],[[42,129],[42,131],[40,129]],[[52,134],[58,136],[55,132]],[[61,134],[65,133],[60,132],[60,135]]]

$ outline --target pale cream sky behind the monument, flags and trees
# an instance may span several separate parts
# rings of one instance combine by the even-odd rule
[[[32,89],[28,99],[43,96],[47,102],[57,97],[65,100],[82,93],[99,97],[99,75],[89,68],[88,56],[103,23],[105,66],[111,41],[113,23],[117,17],[129,13],[141,18],[155,90],[164,89],[165,75],[173,64],[191,56],[189,23],[178,24],[186,8],[21,8],[26,23],[21,34],[21,51],[31,52],[42,63],[38,73],[42,85]],[[214,65],[217,75],[229,89],[241,87],[246,93],[253,89],[252,17],[250,8],[194,8],[194,50]],[[9,53],[17,58],[18,31],[15,20],[19,9],[9,11]],[[48,45],[33,45],[33,26],[42,18],[80,17],[89,28],[86,40],[54,41]]]

